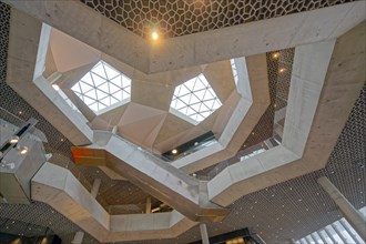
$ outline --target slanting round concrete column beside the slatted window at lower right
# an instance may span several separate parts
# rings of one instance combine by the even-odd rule
[[[322,187],[328,193],[334,202],[339,207],[344,217],[355,228],[358,235],[365,241],[366,240],[366,220],[359,211],[357,211],[348,200],[338,191],[332,182],[323,176],[317,180]]]

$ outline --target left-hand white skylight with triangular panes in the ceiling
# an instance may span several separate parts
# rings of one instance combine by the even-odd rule
[[[100,61],[72,90],[91,110],[101,112],[131,96],[131,79]]]

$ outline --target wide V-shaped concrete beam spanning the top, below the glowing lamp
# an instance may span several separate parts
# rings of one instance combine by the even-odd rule
[[[161,40],[155,44],[78,1],[4,2],[144,73],[327,41],[342,35],[365,19],[365,1],[355,1]]]

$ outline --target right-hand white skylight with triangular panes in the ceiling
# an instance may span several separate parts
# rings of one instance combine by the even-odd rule
[[[176,87],[171,103],[171,108],[197,123],[221,105],[221,101],[203,74]]]

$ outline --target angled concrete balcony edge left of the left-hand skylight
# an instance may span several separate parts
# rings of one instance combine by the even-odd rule
[[[92,131],[43,77],[50,28],[11,9],[7,83],[73,144],[88,144]],[[27,27],[27,28],[24,28]]]

